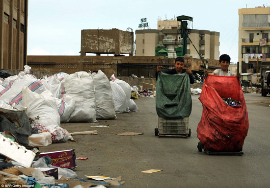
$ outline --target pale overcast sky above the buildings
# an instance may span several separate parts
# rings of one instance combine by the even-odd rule
[[[270,0],[28,0],[27,55],[80,55],[82,29],[150,29],[162,20],[193,17],[193,29],[216,31],[219,52],[238,61],[239,8],[270,6]]]

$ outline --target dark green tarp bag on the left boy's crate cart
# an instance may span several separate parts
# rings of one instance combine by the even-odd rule
[[[156,89],[156,110],[160,118],[183,119],[191,113],[189,75],[159,72]]]

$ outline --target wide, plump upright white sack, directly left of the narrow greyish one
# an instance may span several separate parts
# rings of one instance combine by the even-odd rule
[[[96,122],[96,99],[93,78],[85,71],[68,75],[61,82],[60,97],[69,95],[75,101],[68,122]]]

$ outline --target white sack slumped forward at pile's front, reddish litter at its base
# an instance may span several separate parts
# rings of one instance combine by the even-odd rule
[[[37,94],[24,87],[23,106],[27,108],[26,114],[32,128],[40,132],[50,132],[53,142],[67,141],[68,135],[60,127],[56,100],[50,91]]]

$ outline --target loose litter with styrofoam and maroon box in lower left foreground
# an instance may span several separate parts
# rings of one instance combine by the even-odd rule
[[[88,158],[76,158],[75,149],[40,153],[38,147],[27,149],[5,136],[0,134],[0,184],[6,187],[81,188],[106,184],[120,187],[125,183],[121,176],[87,176],[92,180],[78,178],[73,171],[78,167],[76,160]],[[80,182],[69,180],[71,178]]]

